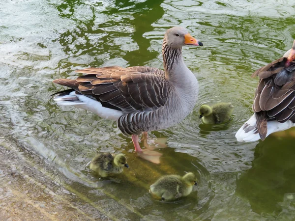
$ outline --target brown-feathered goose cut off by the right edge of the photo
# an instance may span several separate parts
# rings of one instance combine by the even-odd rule
[[[285,55],[252,74],[260,78],[250,119],[237,131],[238,141],[264,140],[295,126],[295,41]]]

